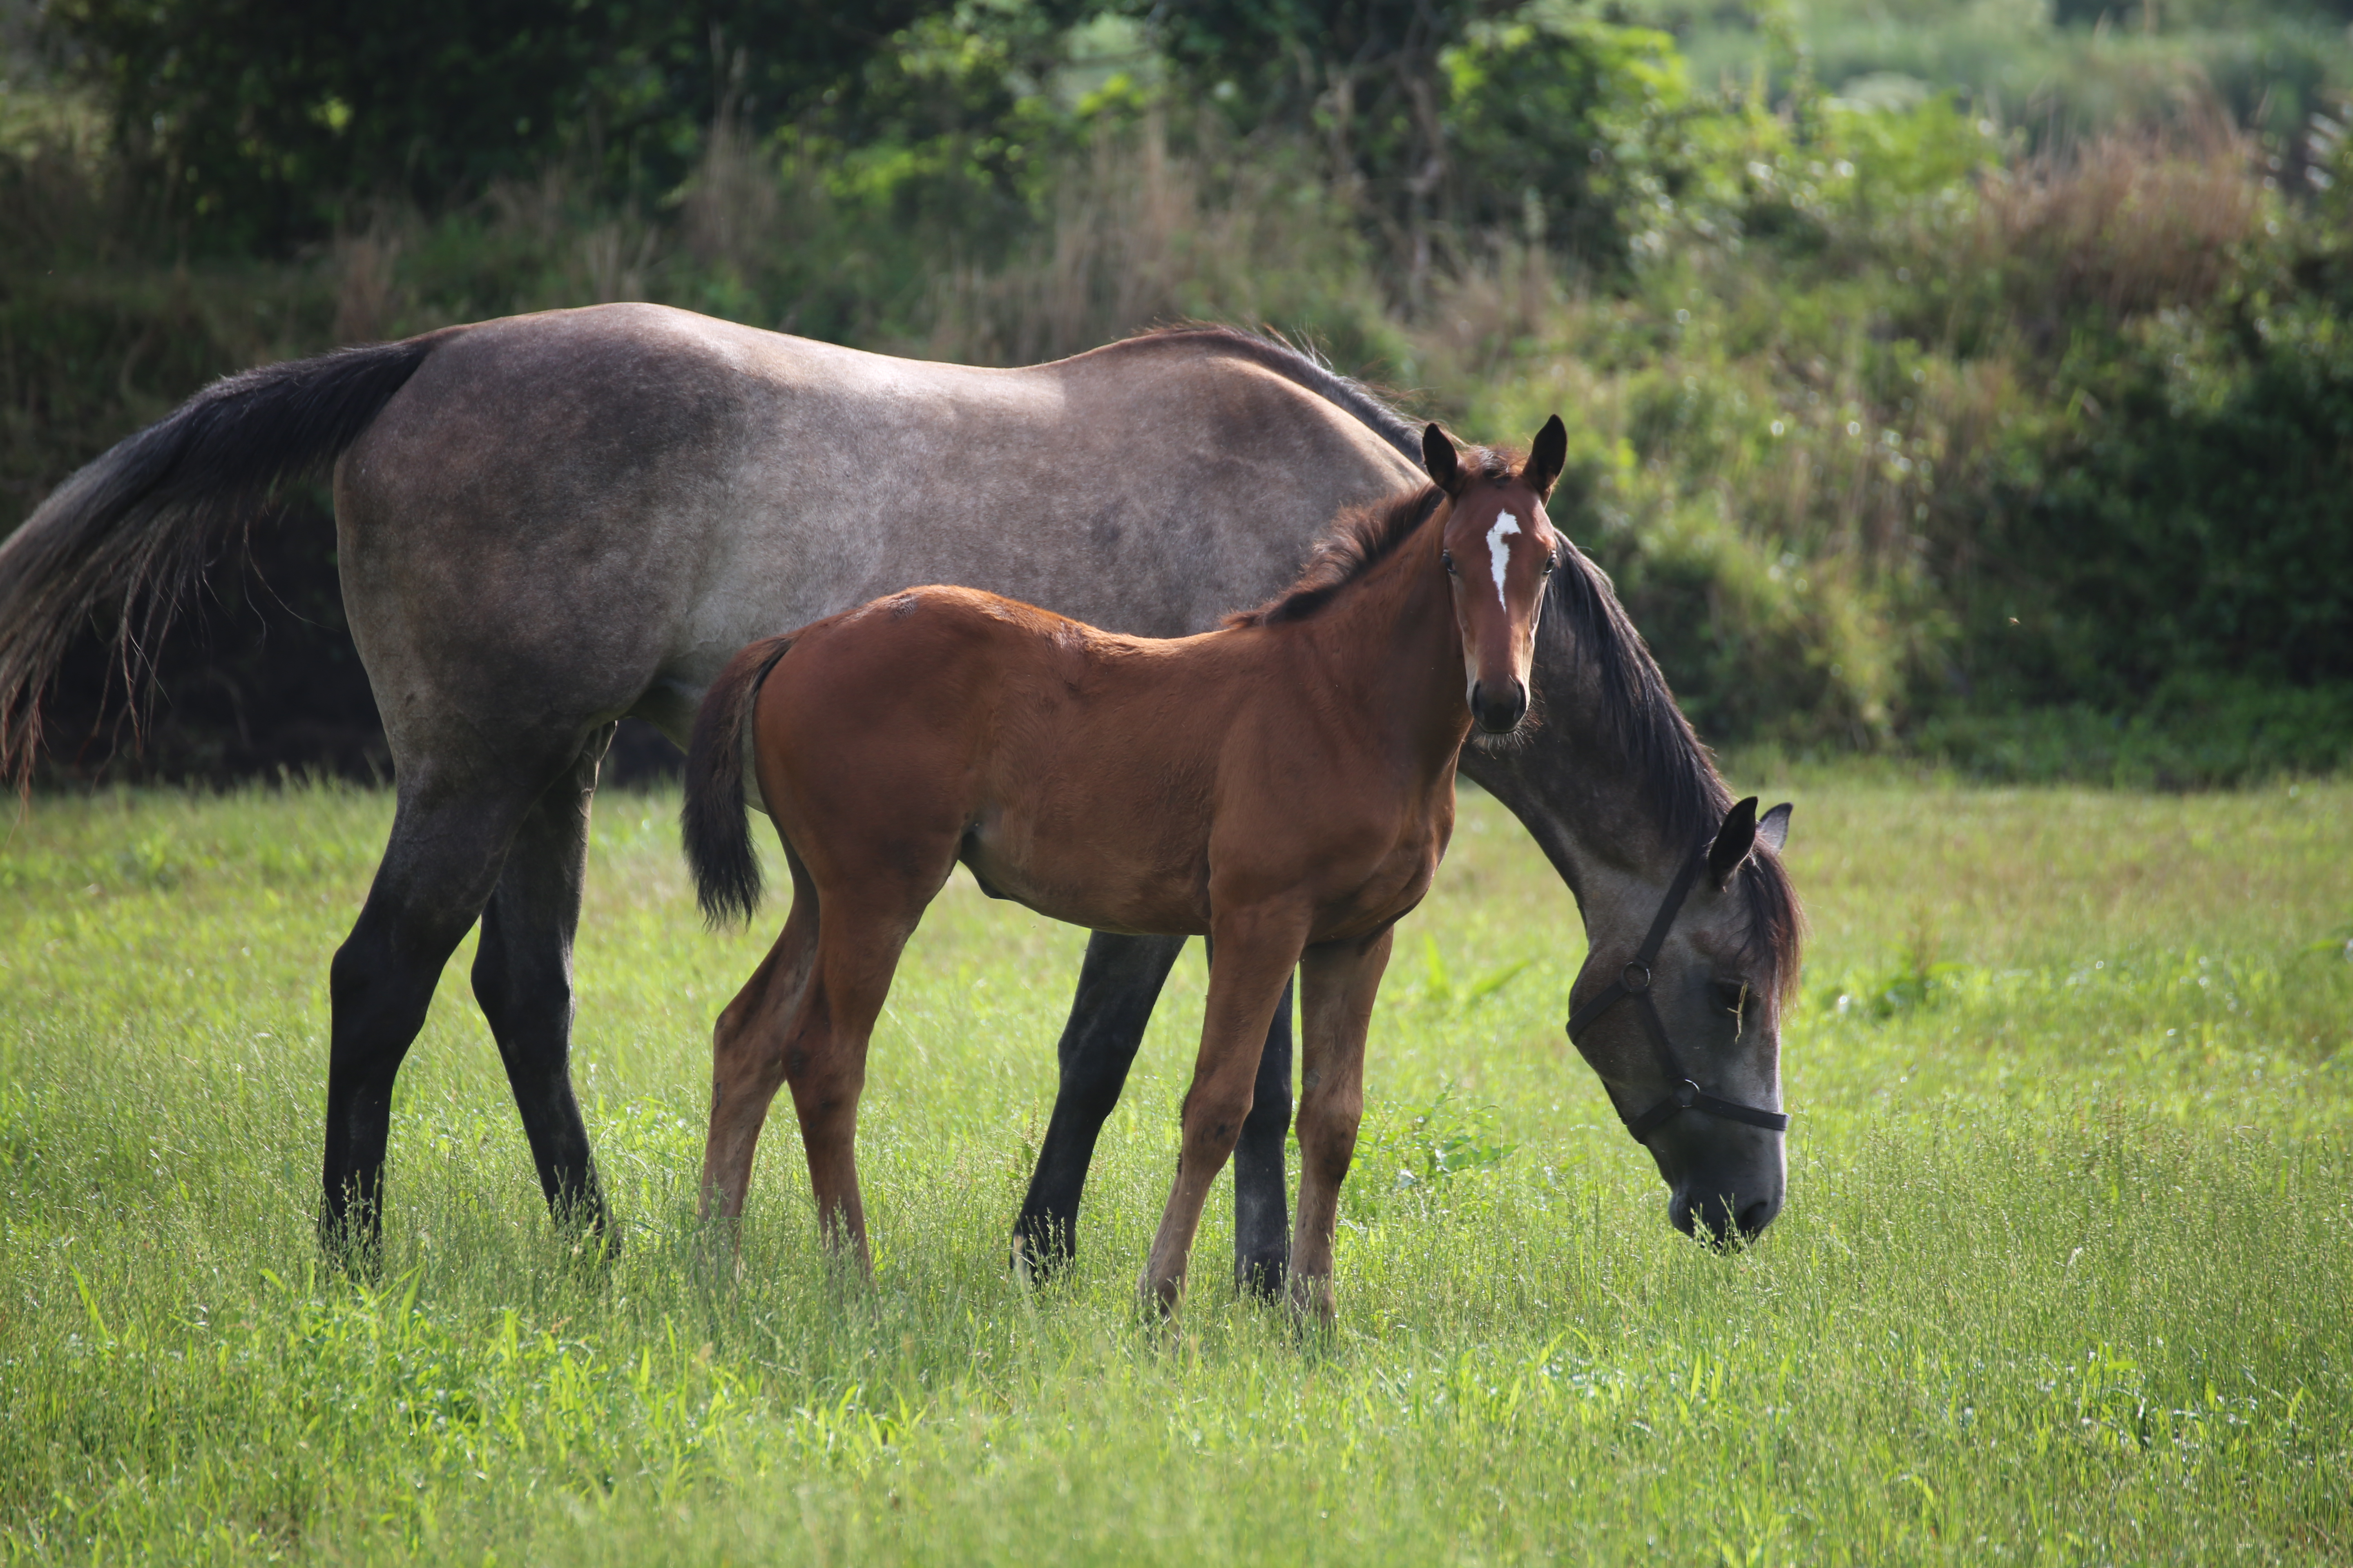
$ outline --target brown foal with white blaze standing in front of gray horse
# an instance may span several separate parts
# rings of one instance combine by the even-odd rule
[[[791,1084],[821,1229],[868,1265],[866,1039],[962,860],[988,893],[1054,919],[1209,938],[1176,1185],[1141,1281],[1160,1309],[1184,1293],[1202,1199],[1299,971],[1292,1300],[1329,1316],[1391,929],[1445,853],[1471,724],[1506,733],[1527,715],[1560,550],[1544,498],[1565,447],[1553,418],[1513,468],[1457,456],[1431,425],[1431,487],[1341,520],[1289,592],[1200,637],[1118,637],[911,588],[736,654],[694,719],[687,856],[713,919],[758,907],[748,766],[793,910],[718,1020],[704,1213],[744,1211],[769,1100]]]

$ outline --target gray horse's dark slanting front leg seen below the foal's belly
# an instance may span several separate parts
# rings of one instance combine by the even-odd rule
[[[1038,1274],[1049,1274],[1078,1253],[1078,1199],[1094,1164],[1094,1140],[1104,1119],[1120,1103],[1127,1070],[1144,1044],[1160,987],[1184,952],[1181,936],[1108,936],[1087,940],[1087,961],[1078,971],[1078,994],[1071,997],[1071,1020],[1061,1027],[1061,1084],[1054,1091],[1054,1117],[1038,1145],[1038,1171],[1031,1175],[1021,1218],[1014,1220],[1014,1246]],[[1285,1034],[1282,1070],[1289,1074],[1289,1034]],[[1280,1138],[1280,1133],[1278,1133]],[[1282,1147],[1275,1145],[1278,1182]]]

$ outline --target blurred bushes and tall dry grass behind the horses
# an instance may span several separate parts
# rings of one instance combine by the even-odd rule
[[[1704,736],[2353,759],[2353,0],[0,0],[0,531],[207,378],[649,299],[1271,327],[1471,440]],[[322,496],[108,776],[384,766]],[[106,757],[96,642],[52,733]],[[642,762],[631,762],[642,766]]]

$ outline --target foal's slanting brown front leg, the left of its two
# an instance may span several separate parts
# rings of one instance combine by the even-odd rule
[[[1160,1234],[1153,1237],[1139,1284],[1146,1309],[1174,1312],[1184,1298],[1200,1208],[1209,1197],[1209,1182],[1226,1168],[1242,1135],[1266,1027],[1299,961],[1304,936],[1304,912],[1287,907],[1249,907],[1212,917],[1209,1001],[1202,1009],[1193,1088],[1184,1100],[1176,1185],[1169,1190],[1169,1206],[1160,1215]]]

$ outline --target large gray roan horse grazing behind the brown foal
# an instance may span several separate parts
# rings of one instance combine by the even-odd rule
[[[1365,388],[1224,329],[967,369],[600,306],[275,364],[127,437],[0,545],[0,766],[31,766],[71,637],[115,616],[134,661],[271,489],[332,463],[344,604],[398,806],[329,971],[322,1234],[376,1237],[393,1077],[475,919],[473,992],[539,1182],[558,1215],[609,1234],[569,1030],[588,799],[616,719],[685,741],[739,646],[908,583],[1148,637],[1207,630],[1289,583],[1344,508],[1417,484],[1419,456],[1419,428]],[[1539,722],[1508,748],[1473,741],[1461,771],[1579,900],[1591,954],[1572,1001],[1598,1016],[1577,1044],[1642,1126],[1671,1218],[1753,1237],[1784,1194],[1769,1112],[1798,971],[1774,853],[1788,818],[1732,809],[1577,550],[1551,595]],[[1179,947],[1087,947],[1016,1220],[1038,1265],[1075,1246],[1096,1133]],[[1628,980],[1640,1006],[1593,1009]],[[1289,1060],[1285,1001],[1235,1150],[1235,1272],[1261,1288],[1289,1229]]]

